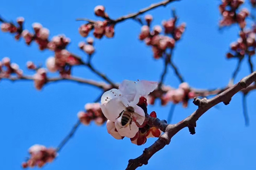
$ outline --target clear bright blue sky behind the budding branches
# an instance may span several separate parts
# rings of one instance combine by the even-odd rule
[[[248,1],[248,0],[247,0]],[[51,37],[65,34],[70,37],[68,50],[86,57],[79,49],[82,38],[78,28],[82,22],[76,18],[97,19],[93,14],[96,5],[104,5],[108,14],[119,16],[138,11],[156,3],[157,0],[12,0],[3,1],[0,14],[8,20],[23,16],[25,26],[31,30],[34,22],[49,28]],[[237,26],[218,30],[220,14],[218,0],[181,0],[160,7],[147,14],[154,16],[153,24],[170,17],[170,9],[176,8],[179,22],[186,22],[187,28],[174,51],[174,62],[184,79],[196,88],[216,88],[227,85],[235,60],[227,60],[225,54],[229,44],[238,38]],[[163,61],[152,57],[151,49],[138,40],[140,25],[127,20],[115,27],[115,38],[96,40],[96,54],[93,64],[115,82],[123,79],[147,79],[158,81],[163,70]],[[26,74],[26,61],[44,64],[53,55],[51,51],[38,51],[37,45],[26,46],[23,40],[16,42],[12,35],[0,32],[0,57],[10,57]],[[255,61],[255,59],[253,59]],[[171,68],[165,83],[179,85]],[[101,80],[87,68],[77,67],[73,74],[87,79]],[[249,74],[244,61],[238,79]],[[33,144],[47,147],[57,146],[77,120],[77,112],[84,104],[93,102],[100,91],[87,85],[72,82],[58,82],[36,91],[32,82],[0,81],[0,169],[19,170],[28,156],[27,149]],[[197,123],[196,134],[190,135],[187,128],[175,135],[171,143],[156,153],[148,165],[140,170],[183,169],[183,170],[226,170],[256,167],[256,96],[248,95],[250,126],[245,127],[241,107],[241,94],[233,97],[230,105],[219,104],[212,108]],[[156,111],[160,119],[166,119],[170,105],[160,107],[159,102],[148,108]],[[189,108],[178,105],[172,122],[179,122],[195,111],[197,107],[189,102]],[[64,147],[58,158],[48,164],[46,170],[125,169],[128,159],[139,156],[145,147],[156,139],[150,139],[142,146],[134,145],[129,139],[116,140],[102,127],[91,124],[81,126],[73,139]],[[37,168],[35,168],[37,169]]]

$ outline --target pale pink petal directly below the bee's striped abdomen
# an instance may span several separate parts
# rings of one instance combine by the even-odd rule
[[[115,122],[115,126],[116,126],[116,130],[119,132],[119,134],[121,136],[125,136],[128,138],[133,138],[136,133],[139,131],[139,127],[137,127],[137,125],[135,124],[135,122],[131,123],[131,129],[130,129],[130,125],[126,125],[126,126],[122,126],[121,125],[121,118],[119,117],[118,119],[116,119]]]

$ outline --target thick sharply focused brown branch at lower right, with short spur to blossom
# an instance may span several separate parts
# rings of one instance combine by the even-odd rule
[[[247,77],[244,77],[240,80],[239,83],[233,87],[225,90],[221,94],[213,97],[212,99],[198,99],[195,97],[193,103],[198,106],[198,109],[188,116],[186,119],[178,122],[177,124],[170,125],[164,121],[160,121],[158,118],[148,117],[148,124],[162,130],[163,133],[159,139],[157,139],[154,144],[150,147],[145,148],[143,154],[136,159],[130,159],[126,170],[135,170],[137,167],[142,166],[143,164],[148,164],[148,160],[151,156],[154,155],[157,151],[163,149],[165,145],[169,144],[172,137],[178,133],[184,127],[189,128],[190,134],[195,134],[196,121],[210,108],[217,105],[218,103],[223,102],[224,105],[228,105],[231,101],[231,98],[241,91],[242,89],[247,88],[250,84],[256,81],[256,71],[250,74]]]

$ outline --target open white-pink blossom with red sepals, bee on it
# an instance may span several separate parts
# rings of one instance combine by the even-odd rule
[[[160,130],[150,127],[145,120],[147,99],[157,87],[157,82],[124,80],[119,89],[106,91],[101,98],[101,108],[107,121],[107,130],[115,139],[128,137],[137,145],[147,137],[159,137]],[[156,117],[156,113],[150,116]]]

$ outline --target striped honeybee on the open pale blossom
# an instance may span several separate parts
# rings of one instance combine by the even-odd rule
[[[143,116],[140,116],[138,113],[134,112],[134,108],[131,106],[128,106],[125,108],[125,110],[123,110],[119,116],[116,118],[118,119],[120,116],[122,116],[121,118],[121,125],[123,127],[126,126],[130,126],[130,130],[131,130],[131,123],[134,121],[134,115],[137,117],[138,119],[143,119]],[[122,128],[122,127],[121,127]]]

